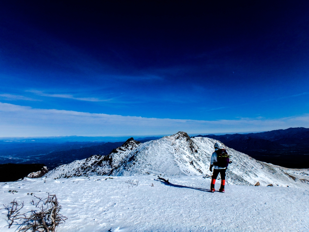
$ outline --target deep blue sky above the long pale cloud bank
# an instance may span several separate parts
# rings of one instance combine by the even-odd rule
[[[309,113],[308,65],[308,1],[0,4],[2,103],[280,120]]]

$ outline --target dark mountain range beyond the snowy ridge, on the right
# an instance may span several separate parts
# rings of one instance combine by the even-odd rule
[[[267,163],[288,168],[309,167],[309,128],[195,137],[219,140],[228,147]]]

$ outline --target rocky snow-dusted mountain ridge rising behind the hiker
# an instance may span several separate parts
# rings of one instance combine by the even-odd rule
[[[206,175],[210,176],[210,157],[218,140],[194,137],[185,132],[165,136],[141,144],[130,138],[108,156],[91,156],[87,159],[61,165],[45,176],[63,178],[73,176],[135,174]],[[309,187],[308,169],[288,169],[257,161],[244,153],[226,147],[233,163],[227,170],[229,183],[239,185],[277,185]]]

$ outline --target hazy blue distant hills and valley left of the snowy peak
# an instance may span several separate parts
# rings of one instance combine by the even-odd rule
[[[141,143],[158,139],[159,137],[139,138]],[[49,170],[71,163],[74,160],[85,159],[91,155],[108,155],[122,142],[66,142],[66,143],[22,143],[12,142],[0,144],[0,164],[44,164]],[[28,167],[31,167],[28,165]]]

